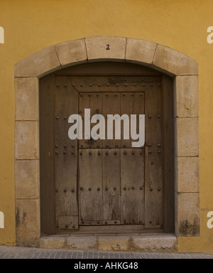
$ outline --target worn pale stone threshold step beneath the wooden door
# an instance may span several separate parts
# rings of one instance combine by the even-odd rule
[[[175,235],[165,233],[143,233],[141,235],[50,235],[40,237],[37,247],[122,252],[177,252],[178,240]]]

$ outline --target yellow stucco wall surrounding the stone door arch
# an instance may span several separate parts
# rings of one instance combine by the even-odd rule
[[[0,26],[0,245],[14,245],[14,65],[50,45],[89,36],[122,36],[178,50],[199,65],[200,237],[178,238],[179,251],[213,252],[213,25],[212,0],[1,0]]]

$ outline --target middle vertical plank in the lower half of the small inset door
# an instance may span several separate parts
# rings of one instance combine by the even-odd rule
[[[120,208],[120,152],[102,149],[104,225],[119,224]]]

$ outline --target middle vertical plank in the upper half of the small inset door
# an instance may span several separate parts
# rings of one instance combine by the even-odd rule
[[[107,127],[107,114],[121,114],[121,94],[119,92],[104,92],[103,93],[103,115],[106,120],[106,140],[103,142],[106,148],[121,147],[121,139],[115,139],[116,122],[113,122],[113,139],[107,139],[107,130],[112,129]]]

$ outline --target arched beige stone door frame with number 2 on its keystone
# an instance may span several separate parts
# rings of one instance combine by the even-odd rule
[[[40,238],[39,79],[71,65],[98,61],[136,63],[173,77],[175,235],[199,236],[197,62],[158,43],[97,36],[50,46],[15,65],[16,242],[32,245]]]

